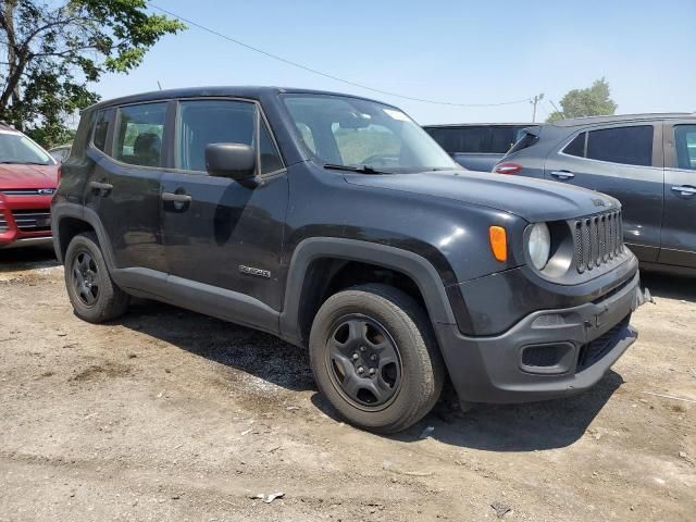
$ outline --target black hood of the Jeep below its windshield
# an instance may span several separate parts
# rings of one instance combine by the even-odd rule
[[[531,223],[570,220],[621,207],[610,196],[572,185],[472,171],[347,174],[346,181],[364,187],[424,194],[489,207]]]

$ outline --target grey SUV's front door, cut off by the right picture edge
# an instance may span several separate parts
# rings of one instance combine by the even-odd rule
[[[664,220],[660,263],[696,268],[696,122],[664,124]]]

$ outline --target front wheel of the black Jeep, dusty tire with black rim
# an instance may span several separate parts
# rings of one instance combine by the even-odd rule
[[[401,290],[369,284],[320,308],[310,334],[320,391],[351,424],[396,433],[420,421],[439,398],[445,365],[430,319]]]

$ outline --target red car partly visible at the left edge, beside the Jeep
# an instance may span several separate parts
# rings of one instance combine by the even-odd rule
[[[48,152],[0,124],[0,248],[51,243],[58,178],[59,164]]]

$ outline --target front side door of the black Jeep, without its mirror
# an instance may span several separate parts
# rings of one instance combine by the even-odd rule
[[[203,293],[233,290],[279,310],[288,182],[260,107],[238,99],[181,100],[175,120],[175,170],[162,178],[161,202],[171,281]],[[206,146],[216,142],[253,146],[262,183],[209,176]]]

